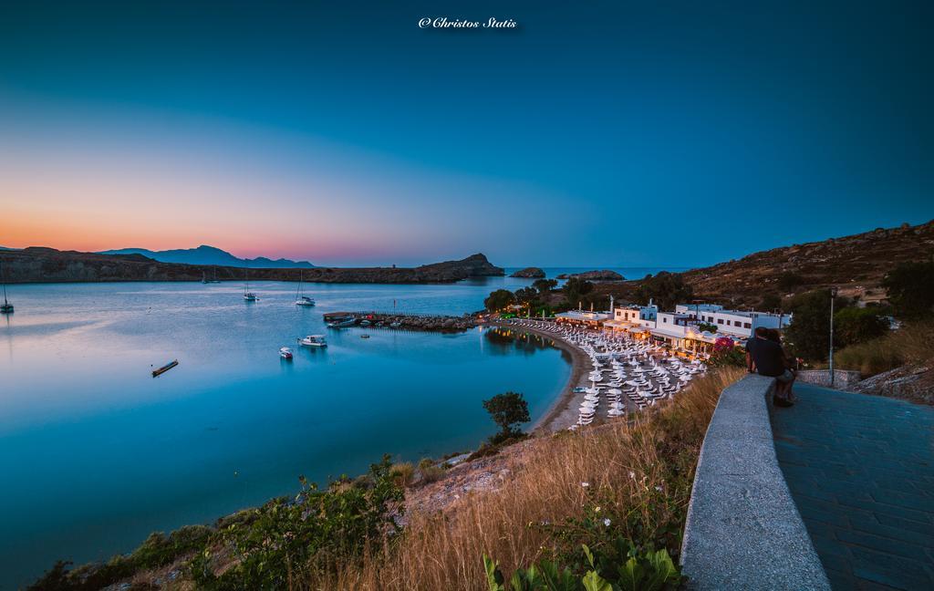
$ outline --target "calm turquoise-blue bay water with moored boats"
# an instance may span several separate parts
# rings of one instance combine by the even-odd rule
[[[321,317],[462,314],[529,283],[312,284],[315,308],[276,282],[251,286],[258,303],[233,283],[14,286],[16,313],[0,317],[0,588],[57,558],[106,558],[150,531],[293,493],[300,474],[323,483],[384,453],[474,447],[495,430],[481,401],[504,390],[544,415],[570,374],[559,349],[479,330],[361,339]],[[315,332],[327,349],[295,343]],[[177,368],[150,376],[171,359]]]

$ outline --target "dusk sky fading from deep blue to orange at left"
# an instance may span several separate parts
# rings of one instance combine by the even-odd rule
[[[418,26],[441,17],[518,26]],[[0,245],[700,266],[922,223],[932,25],[930,2],[0,0]]]

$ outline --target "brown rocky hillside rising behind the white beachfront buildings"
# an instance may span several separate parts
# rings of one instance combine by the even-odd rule
[[[841,295],[872,301],[884,298],[879,284],[889,270],[932,253],[934,220],[772,248],[682,276],[698,297],[720,303],[757,305],[767,293],[784,297],[829,286],[840,288]]]

